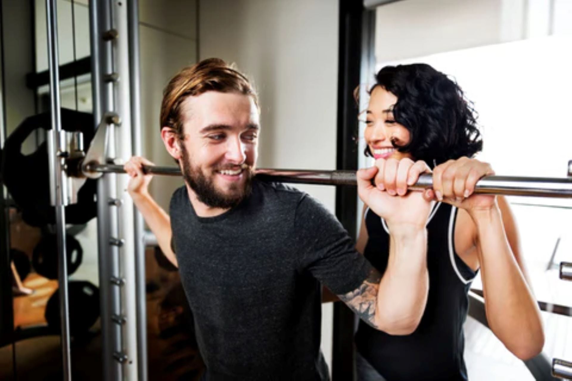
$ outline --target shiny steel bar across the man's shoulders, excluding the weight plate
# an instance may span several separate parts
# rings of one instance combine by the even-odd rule
[[[88,173],[125,173],[121,165],[88,163]],[[177,167],[144,166],[145,173],[153,175],[180,176]],[[313,171],[313,170],[277,170],[257,169],[256,177],[261,179],[303,184],[356,185],[354,171]],[[422,174],[412,190],[424,190],[433,185],[430,174]],[[507,196],[535,196],[551,198],[572,198],[571,178],[485,176],[476,183],[475,193],[501,194]]]

